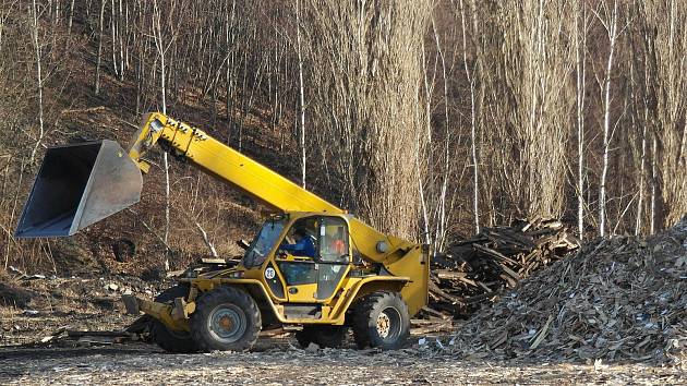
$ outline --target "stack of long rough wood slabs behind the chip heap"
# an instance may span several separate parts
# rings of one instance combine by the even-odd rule
[[[439,324],[467,318],[495,302],[505,289],[516,288],[521,279],[578,248],[579,241],[558,220],[537,218],[510,227],[484,227],[433,258],[424,316]]]

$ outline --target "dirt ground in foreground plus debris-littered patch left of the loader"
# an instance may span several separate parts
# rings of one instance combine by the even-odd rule
[[[281,334],[261,338],[252,352],[209,354],[65,336],[68,329],[120,330],[135,319],[123,314],[121,294],[157,290],[121,276],[7,281],[0,288],[5,302],[0,304],[0,385],[687,384],[684,365],[461,358],[450,353],[450,335],[415,335],[405,350],[379,352],[355,350],[350,339],[346,349],[302,350]]]

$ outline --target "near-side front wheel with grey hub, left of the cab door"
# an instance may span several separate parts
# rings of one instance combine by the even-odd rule
[[[201,295],[191,315],[191,336],[201,351],[246,351],[262,328],[253,298],[234,287],[220,287]]]

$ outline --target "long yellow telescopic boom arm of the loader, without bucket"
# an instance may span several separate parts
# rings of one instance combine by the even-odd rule
[[[346,213],[202,130],[158,112],[144,117],[129,147],[129,156],[144,172],[149,169],[144,156],[158,143],[277,212]],[[384,234],[352,216],[349,225],[354,245],[363,258],[371,262],[393,263],[405,250],[418,246]]]

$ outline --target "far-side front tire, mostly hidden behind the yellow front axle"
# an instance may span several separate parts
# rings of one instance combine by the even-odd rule
[[[171,303],[177,298],[186,297],[189,294],[189,287],[176,286],[169,288],[155,298],[158,303]],[[198,351],[197,345],[193,341],[191,334],[172,331],[165,326],[165,324],[158,319],[153,319],[150,323],[150,338],[161,349],[176,353],[189,353]]]

